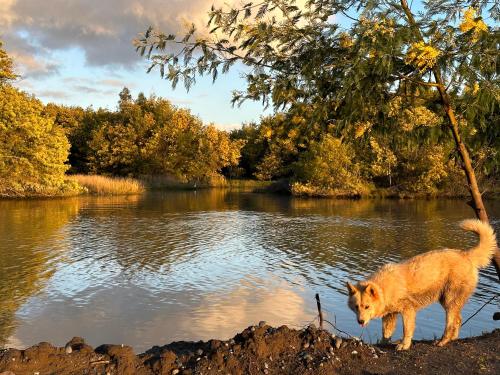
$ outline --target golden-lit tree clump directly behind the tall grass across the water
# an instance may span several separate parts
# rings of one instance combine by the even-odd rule
[[[166,99],[133,99],[127,88],[115,111],[49,104],[44,112],[69,139],[69,173],[206,182],[238,164],[243,144]]]

